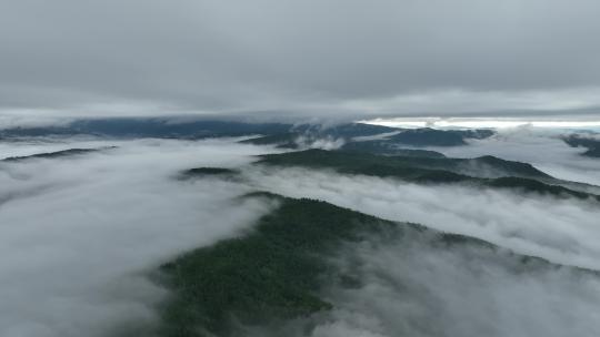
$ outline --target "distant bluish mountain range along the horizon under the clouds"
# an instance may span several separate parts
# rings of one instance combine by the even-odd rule
[[[328,139],[341,140],[348,150],[370,147],[370,152],[378,151],[380,153],[394,152],[397,145],[464,145],[469,139],[484,139],[492,134],[493,132],[490,130],[402,130],[362,123],[323,126],[321,124],[178,121],[166,119],[79,120],[59,126],[0,130],[0,139],[51,135],[176,139],[262,135],[247,142],[252,144],[272,144],[288,149],[297,149],[301,146],[301,142],[307,143]],[[381,135],[381,137],[378,139],[378,135]],[[374,140],[360,140],[360,137],[369,136],[374,137]]]

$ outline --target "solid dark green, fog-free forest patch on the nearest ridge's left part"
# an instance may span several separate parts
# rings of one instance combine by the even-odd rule
[[[161,267],[176,293],[163,309],[161,335],[227,336],[233,334],[236,320],[266,324],[330,309],[331,304],[319,297],[322,277],[333,273],[323,257],[341,242],[397,226],[324,202],[267,193],[244,197],[257,196],[276,197],[281,205],[242,237],[190,252]]]

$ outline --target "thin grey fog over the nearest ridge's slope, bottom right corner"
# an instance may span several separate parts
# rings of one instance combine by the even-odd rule
[[[600,334],[600,280],[523,266],[507,252],[422,238],[363,242],[337,259],[358,285],[330,287],[331,313],[257,336],[581,336]],[[281,336],[281,335],[279,335]]]

